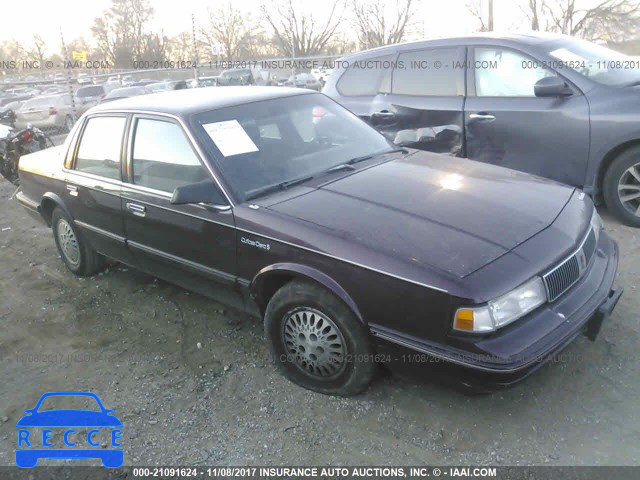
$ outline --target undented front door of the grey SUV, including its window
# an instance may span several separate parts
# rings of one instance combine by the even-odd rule
[[[589,158],[589,104],[574,85],[568,97],[539,98],[535,83],[562,72],[524,52],[476,46],[465,105],[467,156],[574,186]]]

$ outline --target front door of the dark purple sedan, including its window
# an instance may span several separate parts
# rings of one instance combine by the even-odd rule
[[[154,275],[214,297],[220,285],[234,287],[236,233],[231,208],[171,204],[178,186],[208,181],[217,188],[180,123],[169,117],[135,115],[127,150],[122,208],[127,243],[139,264]],[[226,296],[220,299],[230,301]]]

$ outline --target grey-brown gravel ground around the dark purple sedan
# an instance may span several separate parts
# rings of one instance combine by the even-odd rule
[[[606,212],[626,292],[595,343],[488,396],[381,376],[343,399],[282,378],[259,321],[119,264],[74,277],[13,191],[0,182],[0,465],[54,390],[116,410],[125,465],[640,463],[640,230]]]

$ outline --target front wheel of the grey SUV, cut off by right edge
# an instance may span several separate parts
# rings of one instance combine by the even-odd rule
[[[627,188],[620,188],[623,185]],[[625,150],[609,165],[603,194],[612,214],[626,225],[640,227],[640,146]]]

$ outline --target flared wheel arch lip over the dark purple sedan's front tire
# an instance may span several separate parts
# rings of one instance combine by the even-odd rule
[[[249,290],[251,292],[251,296],[256,300],[258,305],[266,305],[267,302],[264,298],[264,287],[268,279],[276,275],[286,275],[306,280],[313,280],[314,282],[319,283],[329,291],[333,292],[333,294],[336,295],[344,303],[346,303],[358,318],[358,320],[366,325],[366,322],[364,321],[364,318],[360,313],[360,309],[353,301],[351,296],[346,292],[344,288],[342,288],[342,286],[338,282],[336,282],[333,278],[331,278],[326,273],[321,272],[320,270],[297,263],[276,263],[273,265],[269,265],[267,267],[264,267],[255,275],[255,277],[253,277],[251,285],[249,286]]]

